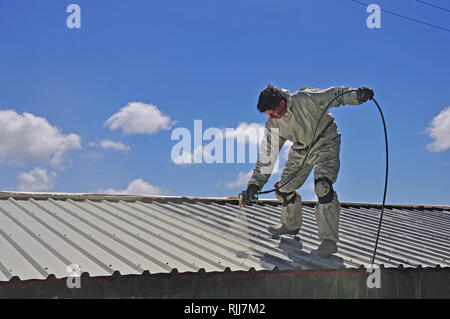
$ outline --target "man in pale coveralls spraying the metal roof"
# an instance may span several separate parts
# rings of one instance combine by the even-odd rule
[[[299,169],[310,144],[311,150],[306,162],[298,174],[286,185],[276,191],[282,202],[281,225],[270,225],[268,231],[273,235],[296,235],[302,225],[302,199],[296,189],[301,187],[312,169],[314,169],[314,191],[318,197],[315,207],[316,221],[319,227],[321,244],[313,253],[329,258],[337,252],[339,241],[340,203],[333,184],[336,182],[340,162],[339,151],[341,135],[333,116],[327,112],[320,122],[314,140],[313,134],[324,108],[339,94],[351,87],[331,87],[329,89],[302,88],[294,94],[288,90],[267,86],[259,95],[257,108],[269,115],[266,122],[266,134],[261,143],[258,161],[253,175],[243,192],[244,202],[250,202],[269,179],[276,158],[284,143],[289,140],[293,145],[283,169],[280,181],[283,185]],[[373,91],[361,87],[354,92],[344,94],[334,100],[330,107],[340,105],[359,105],[373,98]],[[275,140],[274,140],[275,139]],[[273,150],[273,145],[278,144]],[[268,152],[272,150],[272,152]],[[272,159],[267,161],[267,153]],[[264,155],[264,156],[263,156]],[[278,184],[279,183],[279,184]]]

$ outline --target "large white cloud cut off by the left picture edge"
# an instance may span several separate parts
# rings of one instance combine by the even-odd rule
[[[14,164],[48,162],[63,169],[66,154],[81,148],[80,137],[64,135],[45,118],[0,110],[0,159]]]

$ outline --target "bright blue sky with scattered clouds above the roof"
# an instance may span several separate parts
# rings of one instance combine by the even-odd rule
[[[81,29],[66,26],[71,3]],[[375,3],[450,28],[448,12],[417,1]],[[0,190],[233,196],[254,164],[177,165],[175,128],[263,124],[256,100],[268,83],[367,85],[388,126],[387,202],[449,205],[450,33],[387,13],[369,29],[369,15],[350,0],[0,0]],[[148,119],[127,122],[127,105]],[[381,202],[375,105],[331,112],[340,200]],[[143,128],[124,131],[133,125]],[[299,191],[313,199],[311,179]]]

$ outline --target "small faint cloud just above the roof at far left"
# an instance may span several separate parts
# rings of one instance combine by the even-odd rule
[[[44,168],[35,167],[32,171],[20,173],[17,180],[19,181],[20,191],[45,191],[55,185],[56,173],[48,173]]]

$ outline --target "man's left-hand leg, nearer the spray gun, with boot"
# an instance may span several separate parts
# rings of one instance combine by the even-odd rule
[[[303,162],[306,150],[296,148],[296,146],[294,144],[291,147],[288,160],[281,175],[280,185],[286,183]],[[296,192],[296,189],[303,185],[312,168],[313,165],[306,162],[292,181],[276,191],[275,194],[282,203],[281,225],[270,225],[268,227],[268,231],[273,235],[296,235],[299,232],[302,225],[302,198]]]

